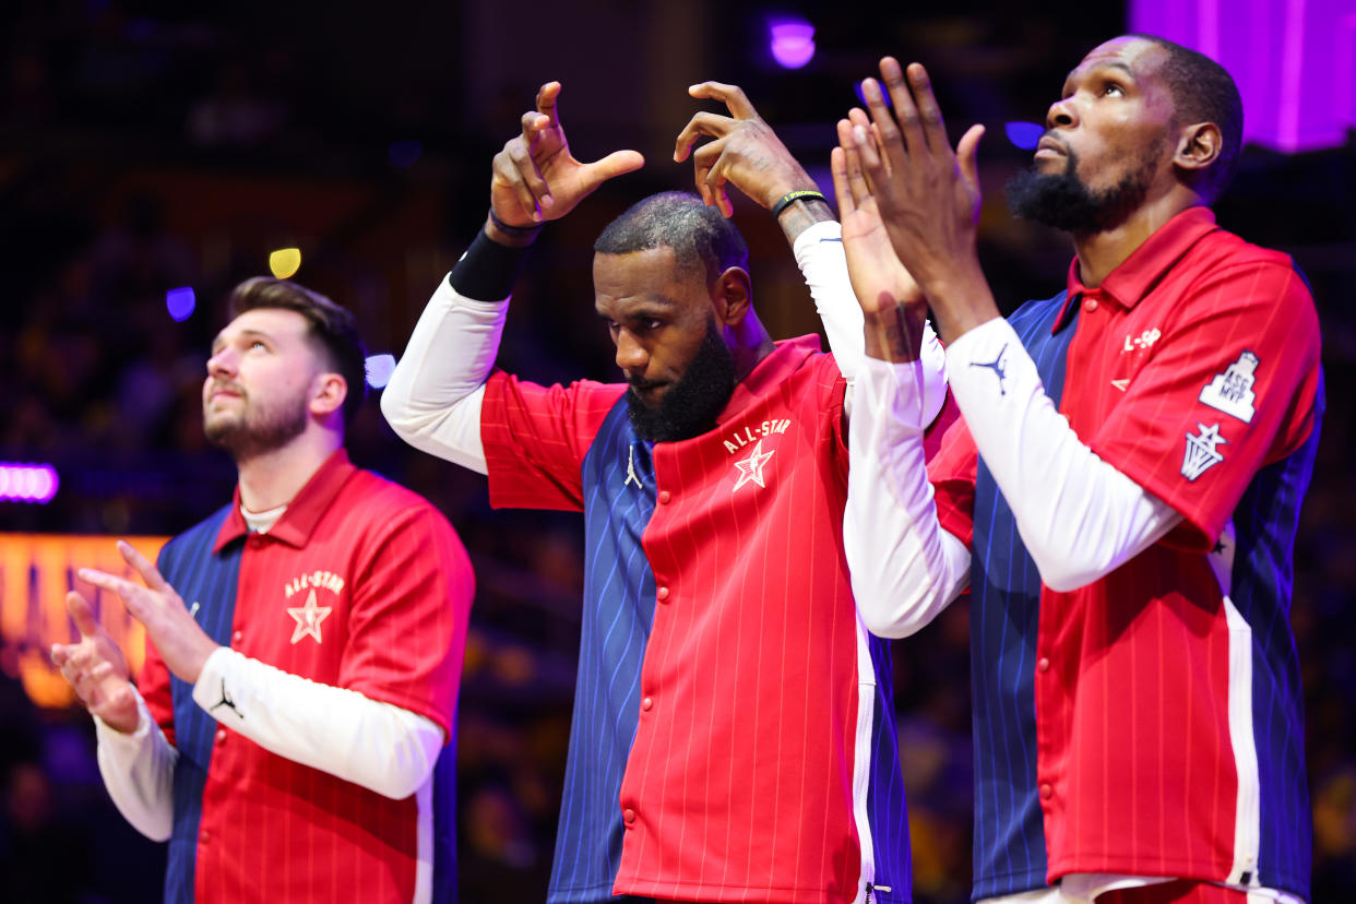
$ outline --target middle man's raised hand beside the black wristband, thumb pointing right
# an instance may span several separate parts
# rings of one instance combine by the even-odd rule
[[[606,180],[645,163],[636,150],[614,150],[594,163],[575,160],[560,125],[559,96],[559,81],[541,85],[537,108],[522,114],[522,134],[495,155],[490,207],[509,226],[559,220]]]

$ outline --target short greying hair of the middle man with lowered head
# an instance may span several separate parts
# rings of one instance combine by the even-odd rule
[[[594,252],[629,255],[664,247],[674,249],[679,266],[700,260],[708,285],[731,267],[749,270],[749,245],[735,224],[687,191],[641,198],[607,224],[594,243]]]

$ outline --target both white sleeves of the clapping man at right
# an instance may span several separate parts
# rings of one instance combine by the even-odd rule
[[[983,379],[993,377],[982,369],[952,367],[951,389],[1041,580],[1051,590],[1073,590],[1138,556],[1181,515],[1078,439],[1008,321],[967,332],[946,348],[946,359],[991,359],[1005,346],[1002,400],[986,390]],[[861,543],[846,543],[857,606],[887,637],[926,625],[964,588],[970,569],[964,543],[937,520],[913,415],[917,381],[913,366],[868,361],[857,377],[850,427],[845,533],[881,533],[898,543],[892,554],[873,557]]]

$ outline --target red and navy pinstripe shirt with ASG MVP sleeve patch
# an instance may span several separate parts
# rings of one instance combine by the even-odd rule
[[[1012,321],[1078,436],[1184,520],[1058,594],[1040,585],[968,434],[932,464],[942,525],[974,531],[975,895],[1113,873],[1307,897],[1288,625],[1322,416],[1307,287],[1288,258],[1196,207],[1098,287],[1078,281],[1075,262],[1066,294]],[[1226,378],[1238,401],[1220,397]],[[1230,556],[1234,623],[1212,569]]]

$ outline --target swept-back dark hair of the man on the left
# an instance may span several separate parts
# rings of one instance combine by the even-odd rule
[[[367,394],[367,351],[358,336],[353,312],[340,308],[319,291],[312,291],[290,279],[254,276],[231,290],[226,302],[231,317],[259,308],[294,310],[306,319],[306,339],[321,354],[328,366],[348,384],[343,400],[343,422],[347,427]]]

